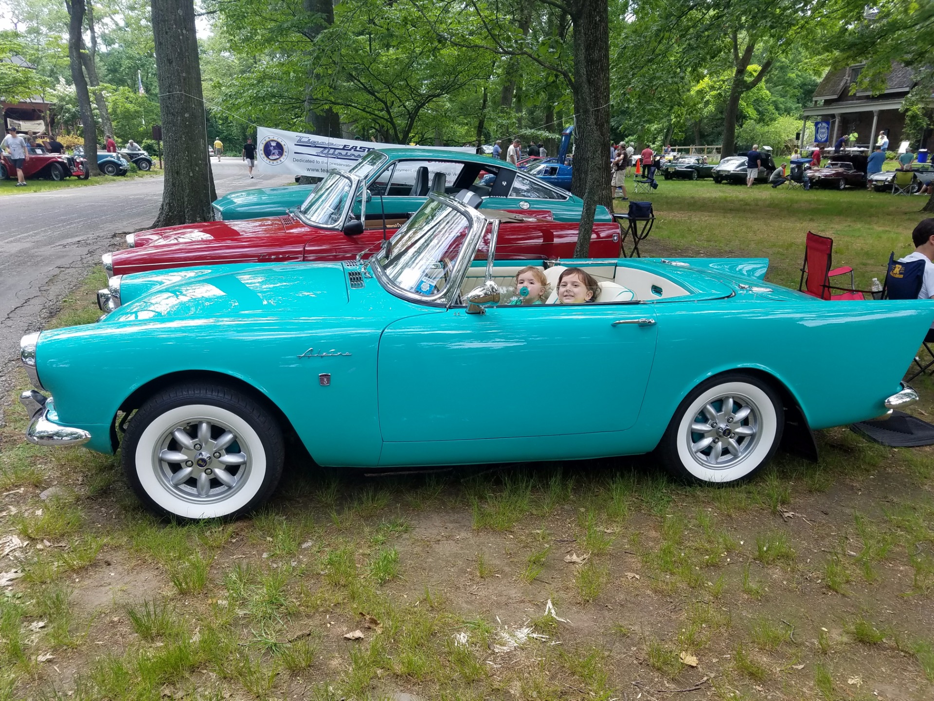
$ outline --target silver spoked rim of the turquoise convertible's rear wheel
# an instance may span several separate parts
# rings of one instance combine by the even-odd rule
[[[738,465],[755,451],[761,422],[761,412],[749,397],[738,393],[715,397],[687,428],[689,454],[707,469]]]

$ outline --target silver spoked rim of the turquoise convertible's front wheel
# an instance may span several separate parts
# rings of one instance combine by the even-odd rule
[[[249,479],[249,446],[227,425],[191,419],[163,432],[154,444],[156,478],[171,494],[207,504],[236,494]]]

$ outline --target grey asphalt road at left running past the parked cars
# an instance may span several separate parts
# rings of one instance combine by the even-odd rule
[[[248,179],[238,158],[212,159],[211,167],[219,195],[288,182],[259,174]],[[0,195],[0,408],[10,401],[21,336],[41,330],[102,253],[123,248],[123,235],[149,228],[159,213],[161,176],[107,180],[112,182]]]

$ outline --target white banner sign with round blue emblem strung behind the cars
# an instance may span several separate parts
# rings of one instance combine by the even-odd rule
[[[281,129],[257,129],[256,168],[261,173],[321,177],[333,168],[348,170],[371,150],[398,147],[376,141],[353,141],[346,138],[286,132]],[[474,147],[444,148],[474,153]]]

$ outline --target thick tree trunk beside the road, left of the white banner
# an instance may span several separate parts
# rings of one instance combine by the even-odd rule
[[[165,151],[163,204],[152,225],[207,222],[217,193],[207,156],[194,0],[152,0],[152,35]]]

